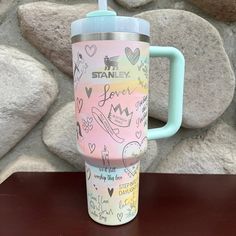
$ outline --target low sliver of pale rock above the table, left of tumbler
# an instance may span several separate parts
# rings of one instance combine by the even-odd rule
[[[15,172],[63,172],[71,171],[70,168],[63,165],[55,165],[40,157],[22,155],[10,162],[0,172],[0,183],[6,180]]]

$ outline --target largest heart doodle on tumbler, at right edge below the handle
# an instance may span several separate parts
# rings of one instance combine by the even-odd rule
[[[134,176],[137,172],[135,163],[138,160],[138,157],[143,154],[147,148],[147,137],[144,137],[141,143],[137,141],[132,141],[127,143],[122,152],[122,161],[127,171]],[[132,158],[130,160],[130,158]]]

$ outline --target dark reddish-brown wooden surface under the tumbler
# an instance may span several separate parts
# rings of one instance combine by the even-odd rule
[[[0,185],[0,236],[235,236],[236,176],[142,174],[139,213],[102,226],[83,173],[16,173]]]

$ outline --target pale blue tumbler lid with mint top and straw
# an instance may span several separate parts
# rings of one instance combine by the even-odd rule
[[[80,34],[129,32],[150,36],[148,21],[136,18],[117,16],[115,11],[107,10],[107,0],[98,0],[99,10],[89,12],[86,18],[71,24],[71,37]]]

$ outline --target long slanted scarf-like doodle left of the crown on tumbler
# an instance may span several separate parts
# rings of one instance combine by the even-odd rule
[[[111,127],[109,121],[107,120],[107,118],[103,115],[103,113],[101,111],[99,111],[96,107],[92,107],[92,114],[94,119],[96,120],[96,122],[98,123],[98,125],[104,130],[106,131],[110,137],[115,140],[117,143],[123,143],[124,139],[120,138],[117,134],[118,134],[118,130],[116,129],[116,131]]]

